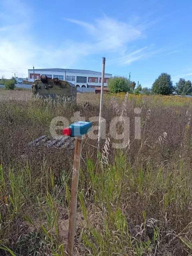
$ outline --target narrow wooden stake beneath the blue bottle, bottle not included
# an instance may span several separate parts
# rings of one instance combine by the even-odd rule
[[[71,203],[70,203],[69,231],[68,231],[68,242],[67,242],[67,255],[69,256],[73,256],[73,252],[74,252],[75,222],[76,222],[76,213],[77,213],[77,189],[78,189],[78,182],[79,182],[81,146],[82,146],[82,137],[76,137],[74,163],[73,163],[73,175],[72,175],[72,183],[71,183]]]

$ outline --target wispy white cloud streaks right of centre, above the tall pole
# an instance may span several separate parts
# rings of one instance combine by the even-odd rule
[[[94,39],[94,43],[87,45],[88,51],[91,53],[97,52],[116,52],[119,57],[111,58],[107,64],[116,64],[118,66],[128,66],[134,61],[150,58],[158,54],[174,54],[182,49],[177,49],[177,45],[169,45],[156,49],[154,45],[143,46],[142,48],[132,49],[131,43],[144,37],[144,31],[153,23],[147,22],[134,26],[119,22],[114,19],[104,17],[96,19],[93,24],[88,22],[67,19],[69,22],[77,24],[85,28]],[[155,22],[154,22],[155,23]],[[135,47],[134,47],[135,48]]]

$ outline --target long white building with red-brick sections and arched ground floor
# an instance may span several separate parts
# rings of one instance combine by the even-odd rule
[[[34,73],[33,73],[34,72]],[[76,87],[95,88],[101,86],[101,72],[81,69],[62,69],[62,68],[46,68],[46,69],[28,69],[29,82],[40,79],[41,75],[48,78],[58,77],[60,80],[66,80]],[[104,86],[107,86],[107,80],[112,74],[105,73]]]

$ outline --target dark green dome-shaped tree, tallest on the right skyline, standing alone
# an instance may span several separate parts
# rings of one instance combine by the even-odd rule
[[[152,85],[152,92],[156,94],[169,95],[173,90],[174,86],[171,76],[167,73],[161,73]]]

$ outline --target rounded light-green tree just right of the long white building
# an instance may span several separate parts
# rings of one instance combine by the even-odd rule
[[[133,91],[133,84],[129,79],[126,77],[115,76],[110,78],[108,81],[108,87],[110,92],[117,93],[117,92],[132,92]]]

